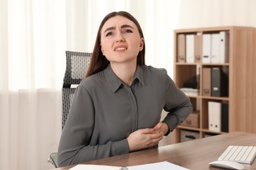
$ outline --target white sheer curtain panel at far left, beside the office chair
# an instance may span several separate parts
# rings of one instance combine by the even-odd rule
[[[66,3],[0,2],[0,169],[50,169],[61,133]]]

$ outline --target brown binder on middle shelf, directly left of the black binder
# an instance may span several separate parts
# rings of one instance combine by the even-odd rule
[[[211,96],[211,68],[203,68],[203,92],[204,96]]]

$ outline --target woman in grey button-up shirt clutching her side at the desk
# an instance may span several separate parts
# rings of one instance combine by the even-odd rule
[[[146,66],[144,55],[142,29],[131,14],[102,20],[62,131],[59,166],[158,146],[192,112],[165,69]],[[160,122],[163,109],[169,114]]]

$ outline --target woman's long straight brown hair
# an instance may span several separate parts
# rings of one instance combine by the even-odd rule
[[[87,73],[86,73],[85,77],[94,75],[95,73],[98,73],[98,72],[106,69],[106,67],[110,63],[110,61],[108,61],[108,59],[106,59],[106,57],[103,56],[103,54],[102,54],[101,47],[100,47],[100,39],[101,39],[100,34],[101,34],[101,29],[102,29],[103,25],[105,24],[105,22],[114,16],[124,16],[125,18],[134,22],[135,25],[137,25],[137,27],[139,29],[140,38],[144,39],[142,29],[140,27],[139,22],[131,14],[129,14],[128,12],[125,12],[125,11],[111,12],[110,14],[105,16],[105,18],[100,23],[100,27],[98,28],[98,33],[97,33],[97,37],[96,37],[96,41],[95,41],[95,47],[93,49],[93,54],[91,56],[90,65],[87,69]],[[139,52],[139,54],[137,56],[137,65],[145,65],[145,42],[144,42],[143,49]]]

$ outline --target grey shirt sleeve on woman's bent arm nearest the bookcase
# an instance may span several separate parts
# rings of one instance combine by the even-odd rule
[[[173,131],[192,112],[192,104],[187,97],[167,75],[166,103],[163,108],[169,112],[163,122],[169,126],[169,132]],[[165,135],[168,135],[169,132]]]

